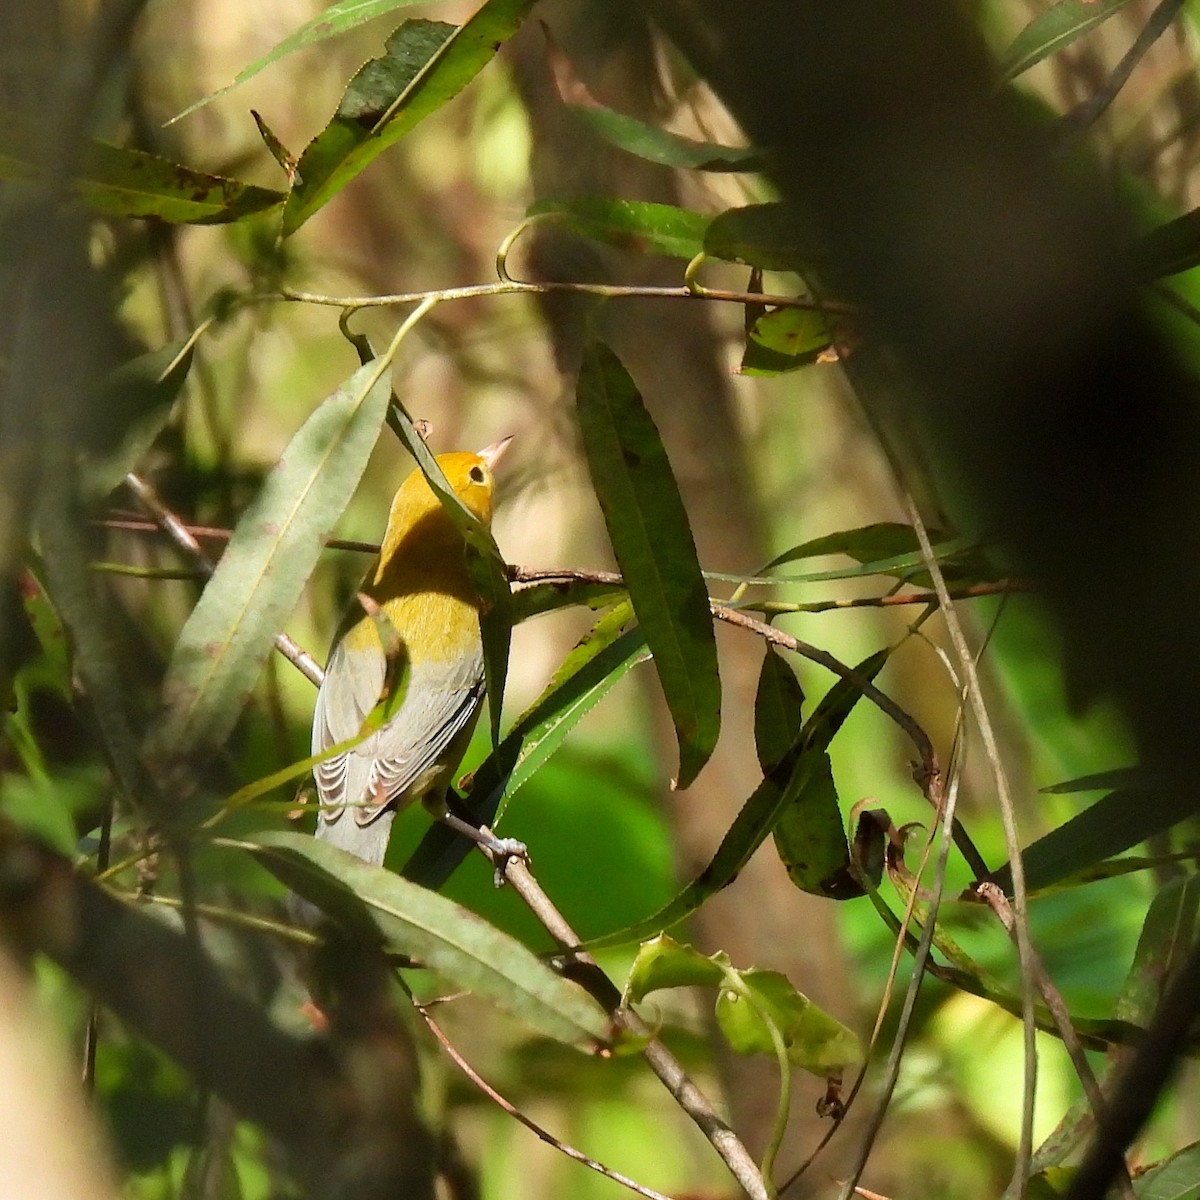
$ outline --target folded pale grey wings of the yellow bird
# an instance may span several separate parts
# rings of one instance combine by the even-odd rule
[[[354,654],[338,643],[325,670],[313,714],[313,754],[353,738],[379,701],[382,655]],[[467,736],[484,695],[482,652],[452,666],[414,664],[396,715],[346,754],[316,768],[322,820],[331,823],[346,805],[367,824],[404,793],[432,782],[428,773],[458,734]]]

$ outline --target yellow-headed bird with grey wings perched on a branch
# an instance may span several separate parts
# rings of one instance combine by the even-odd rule
[[[463,504],[492,520],[493,469],[509,438],[478,454],[444,454],[438,466]],[[360,592],[386,614],[407,659],[391,719],[344,754],[318,763],[317,836],[380,864],[396,812],[414,800],[502,854],[522,853],[450,816],[445,792],[479,718],[484,648],[479,596],[466,545],[420,470],[396,492],[379,557]],[[312,751],[356,737],[378,704],[388,671],[379,624],[354,600],[334,640],[312,720]]]

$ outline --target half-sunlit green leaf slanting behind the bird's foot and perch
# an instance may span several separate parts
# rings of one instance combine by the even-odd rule
[[[541,696],[480,763],[467,797],[476,820],[485,824],[498,820],[512,794],[544,766],[580,719],[649,658],[640,629],[622,631],[631,614],[626,601],[601,617],[563,660]],[[406,864],[404,875],[426,887],[440,887],[468,850],[469,844],[458,834],[433,826]]]

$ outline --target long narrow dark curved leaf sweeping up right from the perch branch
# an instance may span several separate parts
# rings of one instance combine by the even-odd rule
[[[877,650],[854,670],[865,680],[872,680],[883,668],[890,650]],[[814,772],[820,769],[818,751],[829,748],[862,694],[846,679],[839,679],[821,698],[808,719],[792,750],[770,770],[721,839],[709,864],[668,904],[644,920],[619,929],[604,937],[590,940],[589,948],[626,946],[641,942],[662,929],[683,920],[695,912],[710,895],[728,887],[750,862],[754,852],[766,841],[779,816],[808,786]]]

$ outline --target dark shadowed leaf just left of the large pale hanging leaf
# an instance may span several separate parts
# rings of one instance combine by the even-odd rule
[[[100,384],[92,404],[110,437],[84,462],[85,494],[108,496],[137,467],[167,424],[191,366],[190,342],[174,342],[122,364]]]

